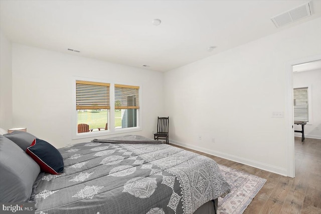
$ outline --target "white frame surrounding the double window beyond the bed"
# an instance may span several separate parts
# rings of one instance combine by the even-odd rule
[[[102,82],[102,83],[109,83],[109,103],[110,108],[108,109],[108,130],[103,131],[97,131],[97,132],[86,132],[86,133],[78,133],[77,131],[77,124],[78,124],[78,118],[77,118],[77,109],[76,109],[76,81],[90,81],[90,82]],[[97,79],[97,78],[88,78],[88,77],[78,77],[74,76],[72,85],[72,139],[83,139],[83,138],[93,138],[93,137],[99,137],[99,136],[108,136],[108,135],[115,135],[115,134],[122,134],[122,133],[130,133],[130,132],[137,132],[142,130],[142,90],[141,85],[135,84],[135,83],[128,83],[124,82],[123,85],[131,85],[131,86],[137,86],[138,94],[139,94],[139,108],[137,109],[137,126],[136,127],[130,127],[130,128],[122,128],[122,129],[115,129],[115,85],[119,85],[119,83],[115,83],[112,81],[106,81],[104,79]]]

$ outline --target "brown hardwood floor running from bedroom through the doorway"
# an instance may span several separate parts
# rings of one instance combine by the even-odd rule
[[[219,164],[266,179],[264,186],[243,212],[245,214],[321,213],[321,140],[305,138],[302,144],[301,138],[295,137],[295,178],[184,149],[208,156]]]

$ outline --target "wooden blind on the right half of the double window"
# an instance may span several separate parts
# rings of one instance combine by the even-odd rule
[[[139,109],[139,86],[115,84],[115,109]]]

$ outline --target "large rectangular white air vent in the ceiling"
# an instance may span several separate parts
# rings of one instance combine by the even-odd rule
[[[279,27],[282,27],[283,25],[290,24],[292,22],[295,22],[297,20],[300,20],[309,16],[311,16],[311,9],[310,9],[310,3],[307,2],[304,5],[301,5],[285,13],[272,17],[271,20],[273,21],[274,25],[277,28],[279,28]]]

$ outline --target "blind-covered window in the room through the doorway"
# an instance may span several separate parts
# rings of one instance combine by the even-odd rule
[[[293,89],[293,111],[294,121],[309,121],[307,87]]]

